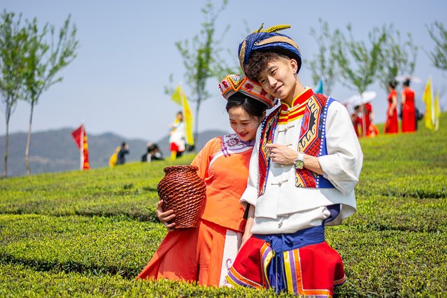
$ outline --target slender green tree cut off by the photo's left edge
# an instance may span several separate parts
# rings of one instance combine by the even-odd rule
[[[17,100],[22,97],[25,71],[27,32],[20,27],[22,15],[15,20],[15,13],[3,10],[0,24],[0,92],[5,108],[6,136],[3,177],[8,175],[9,120]]]

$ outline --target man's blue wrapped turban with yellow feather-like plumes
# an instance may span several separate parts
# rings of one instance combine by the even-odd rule
[[[297,60],[298,69],[301,68],[301,52],[295,41],[287,35],[276,33],[276,31],[290,28],[288,24],[281,24],[270,27],[268,29],[260,29],[253,31],[248,35],[239,45],[239,63],[241,69],[245,71],[245,66],[251,57],[253,51],[271,51],[278,54],[286,55],[292,59]]]

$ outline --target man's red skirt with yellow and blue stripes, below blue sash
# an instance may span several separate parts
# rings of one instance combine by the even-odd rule
[[[326,241],[283,254],[285,284],[291,294],[332,297],[334,286],[346,281],[341,257]],[[227,281],[236,287],[270,288],[266,272],[272,255],[269,243],[252,236],[239,251]]]

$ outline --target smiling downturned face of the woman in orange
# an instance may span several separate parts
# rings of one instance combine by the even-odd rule
[[[251,117],[241,106],[234,106],[228,110],[229,125],[239,136],[241,141],[255,139],[257,127],[261,123],[258,117]]]

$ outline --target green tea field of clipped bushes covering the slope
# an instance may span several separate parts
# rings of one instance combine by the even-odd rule
[[[361,139],[357,213],[326,229],[348,276],[336,297],[446,295],[446,123],[443,113],[439,132],[419,122],[416,134]],[[0,180],[0,297],[274,297],[135,281],[166,234],[155,205],[157,183],[169,165],[130,163]]]

